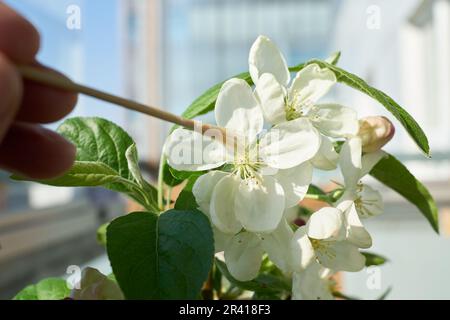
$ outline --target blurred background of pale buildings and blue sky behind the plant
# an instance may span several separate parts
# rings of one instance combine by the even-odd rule
[[[344,292],[374,299],[392,286],[388,299],[450,299],[449,0],[6,3],[41,32],[43,63],[86,85],[178,114],[213,84],[246,71],[259,34],[271,37],[290,65],[341,50],[341,67],[392,96],[427,133],[431,160],[397,122],[387,150],[429,187],[441,223],[438,236],[417,209],[377,186],[386,212],[365,223],[374,239],[371,251],[389,262],[344,274]],[[392,119],[376,102],[343,86],[327,99],[356,108],[361,117]],[[143,168],[154,176],[167,124],[86,97],[72,115],[102,116],[122,125],[138,143]],[[64,275],[70,265],[108,272],[95,231],[130,206],[106,191],[16,183],[0,172],[0,298],[43,277]]]

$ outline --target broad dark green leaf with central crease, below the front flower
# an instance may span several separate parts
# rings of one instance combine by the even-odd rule
[[[200,211],[136,212],[115,219],[107,251],[127,299],[196,299],[214,255],[213,235]]]

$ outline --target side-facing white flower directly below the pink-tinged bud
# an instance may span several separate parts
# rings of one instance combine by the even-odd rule
[[[362,155],[362,143],[359,137],[347,140],[341,149],[339,164],[344,176],[345,192],[340,202],[354,201],[358,214],[362,218],[383,213],[384,205],[381,194],[361,182],[373,167],[386,156],[379,150]]]

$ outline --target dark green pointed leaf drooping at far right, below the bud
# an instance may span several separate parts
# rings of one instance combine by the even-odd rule
[[[414,204],[439,233],[438,208],[427,188],[394,156],[382,159],[370,174]]]

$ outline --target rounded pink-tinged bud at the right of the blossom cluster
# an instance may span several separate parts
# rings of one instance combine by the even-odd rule
[[[395,127],[383,116],[372,116],[359,120],[358,136],[362,140],[363,152],[375,152],[383,148],[394,136]]]

